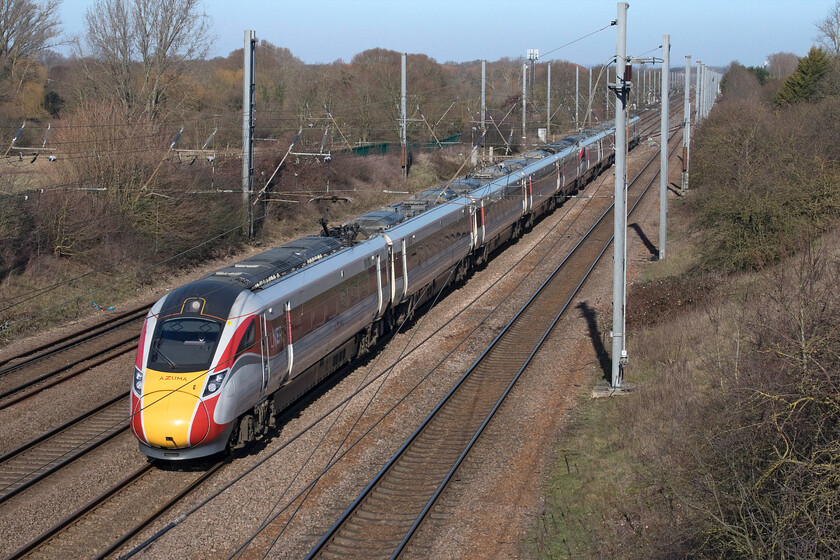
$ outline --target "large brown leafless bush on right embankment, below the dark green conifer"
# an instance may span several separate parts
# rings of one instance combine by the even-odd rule
[[[837,102],[782,112],[721,103],[694,143],[694,204],[706,267],[759,270],[827,230],[840,209],[836,132],[821,133]]]

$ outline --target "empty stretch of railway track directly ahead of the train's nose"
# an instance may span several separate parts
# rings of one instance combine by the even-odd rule
[[[17,558],[105,558],[213,477],[227,461],[194,471],[150,462],[13,552]]]

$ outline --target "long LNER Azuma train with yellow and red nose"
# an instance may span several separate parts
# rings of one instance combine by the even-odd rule
[[[628,125],[633,146],[639,117]],[[581,130],[173,289],[140,334],[130,391],[140,451],[189,460],[267,433],[609,167],[614,137]]]

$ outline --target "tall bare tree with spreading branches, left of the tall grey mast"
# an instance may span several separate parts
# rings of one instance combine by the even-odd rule
[[[96,0],[85,14],[88,53],[126,113],[154,117],[186,62],[210,45],[200,0]]]

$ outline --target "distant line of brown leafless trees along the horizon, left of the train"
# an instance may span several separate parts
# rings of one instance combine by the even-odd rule
[[[60,38],[59,0],[0,0],[0,130],[10,136],[22,120],[62,124],[92,104],[106,105],[127,123],[201,121],[184,142],[206,138],[233,143],[240,133],[242,51],[207,60],[212,26],[200,0],[95,0],[85,12],[85,31],[69,57],[54,48]],[[288,49],[262,41],[257,49],[257,135],[293,134],[301,125],[332,127],[341,144],[399,139],[400,54],[371,49],[349,62],[304,64]],[[494,142],[521,126],[522,58],[487,67],[487,106],[500,131]],[[552,63],[552,125],[574,117],[575,65]],[[596,81],[593,109],[603,118],[606,77],[602,68],[582,69],[580,112],[588,76]],[[528,120],[545,126],[546,65],[529,70]],[[438,63],[412,54],[408,63],[409,128],[416,138],[470,132],[480,115],[480,63]],[[330,116],[331,115],[331,116]],[[421,123],[425,118],[430,121]],[[320,123],[319,123],[320,121]],[[593,118],[588,119],[590,123]],[[174,125],[173,125],[174,126]],[[316,128],[318,127],[316,126]],[[176,129],[177,130],[177,129]],[[37,142],[35,132],[31,142]],[[497,137],[498,136],[498,137]],[[319,139],[320,140],[320,139]],[[21,139],[25,143],[26,137]]]

